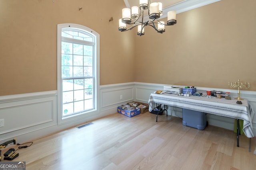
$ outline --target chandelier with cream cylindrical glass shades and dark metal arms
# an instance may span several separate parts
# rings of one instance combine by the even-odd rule
[[[148,5],[150,4],[150,5]],[[149,20],[144,21],[144,13],[148,14]],[[132,28],[138,26],[137,35],[144,35],[144,27],[150,25],[158,33],[165,32],[164,26],[176,24],[176,11],[169,11],[167,13],[167,23],[164,21],[158,21],[158,18],[162,16],[162,3],[153,2],[150,0],[140,0],[139,6],[132,6],[132,8],[123,8],[122,9],[122,19],[119,19],[119,31],[128,31]],[[126,24],[131,25],[127,29]],[[156,27],[157,25],[157,27]]]

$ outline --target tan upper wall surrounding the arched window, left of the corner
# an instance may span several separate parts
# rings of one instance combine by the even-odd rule
[[[0,96],[57,89],[59,23],[100,34],[100,84],[134,81],[134,36],[118,31],[124,7],[122,0],[0,0]]]

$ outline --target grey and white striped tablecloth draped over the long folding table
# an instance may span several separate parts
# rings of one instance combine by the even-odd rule
[[[243,131],[246,137],[254,137],[252,131],[252,117],[254,111],[247,100],[242,100],[242,104],[236,104],[235,99],[226,100],[224,98],[204,98],[200,96],[178,96],[175,94],[154,94],[148,100],[149,111],[159,104],[175,106],[185,109],[202,111],[214,115],[231,117],[244,120]]]

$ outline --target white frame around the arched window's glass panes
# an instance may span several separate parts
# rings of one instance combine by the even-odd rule
[[[94,72],[94,109],[62,117],[62,63],[61,63],[61,45],[62,45],[62,29],[74,29],[86,32],[94,37],[94,61],[93,61],[93,72]],[[68,38],[65,38],[68,39]],[[78,39],[76,39],[79,41]],[[84,41],[82,41],[84,42]],[[92,43],[88,41],[88,43]],[[57,101],[58,101],[58,125],[67,123],[70,121],[80,120],[85,117],[96,115],[99,113],[99,90],[100,90],[100,35],[83,25],[73,23],[62,23],[57,25]]]

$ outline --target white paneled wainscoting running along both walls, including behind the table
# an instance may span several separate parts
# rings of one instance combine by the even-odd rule
[[[81,119],[58,125],[57,91],[37,92],[0,96],[0,119],[4,119],[4,127],[0,127],[0,143],[16,138],[18,143],[31,141],[38,137],[61,131],[68,127],[87,123],[117,112],[117,107],[131,101],[147,103],[151,93],[163,90],[164,84],[128,82],[100,86],[100,106],[95,115],[81,116]],[[196,87],[198,92],[206,90],[229,91],[237,96],[237,90],[211,89]],[[256,92],[241,91],[241,98],[247,99],[256,111]],[[182,109],[168,107],[168,114],[182,117]],[[208,114],[210,125],[232,130],[234,119]],[[256,136],[256,116],[252,119]]]

